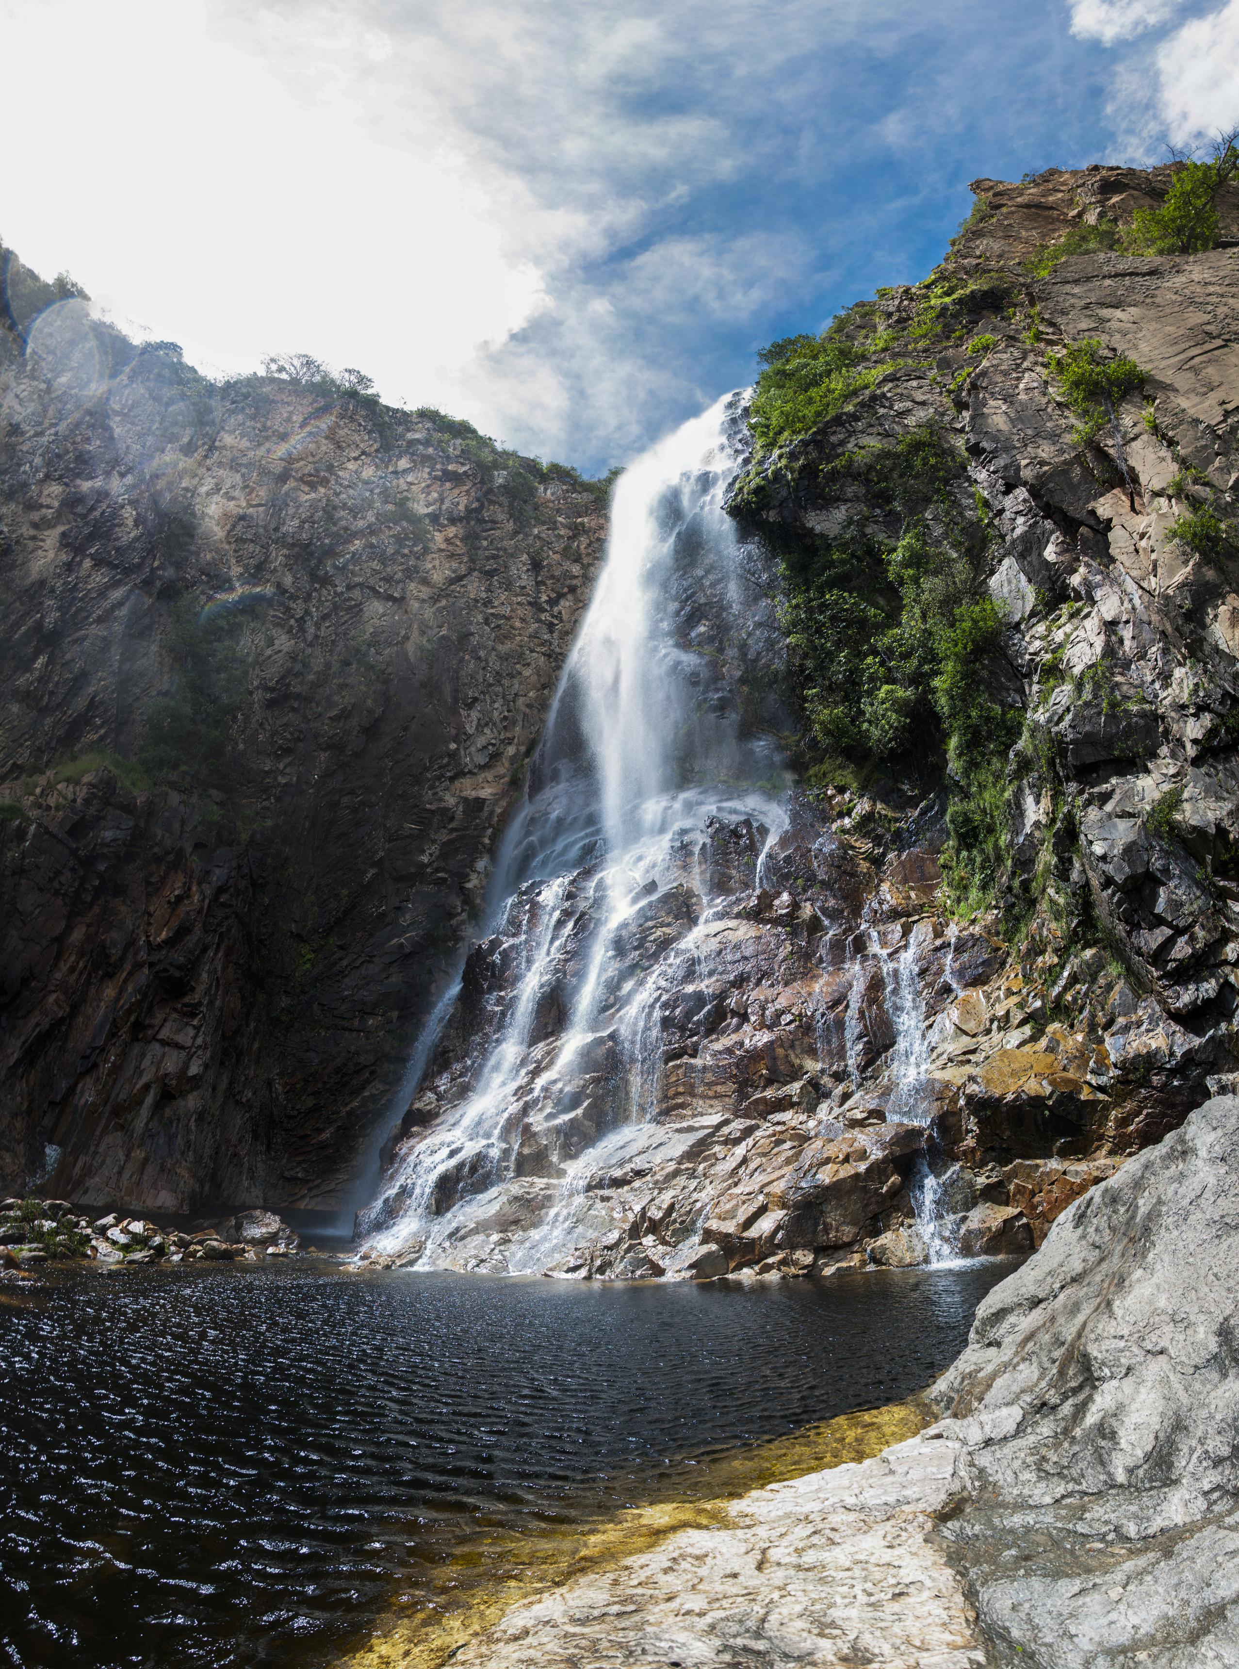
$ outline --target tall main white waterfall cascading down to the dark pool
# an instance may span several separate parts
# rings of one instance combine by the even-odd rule
[[[736,404],[720,401],[616,484],[594,598],[496,861],[478,975],[503,986],[494,1023],[459,1098],[362,1215],[377,1253],[451,1263],[463,1227],[491,1212],[503,1267],[533,1270],[596,1227],[586,1182],[651,1118],[661,1008],[708,956],[703,841],[721,819],[765,851],[786,824],[778,748],[740,716],[746,658],[773,619],[723,509]],[[668,920],[670,955],[643,973],[635,945]]]

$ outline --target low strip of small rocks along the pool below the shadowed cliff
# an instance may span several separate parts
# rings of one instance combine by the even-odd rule
[[[299,1250],[301,1237],[274,1212],[239,1212],[182,1230],[119,1212],[92,1220],[68,1200],[0,1200],[0,1275],[58,1262],[257,1263]]]

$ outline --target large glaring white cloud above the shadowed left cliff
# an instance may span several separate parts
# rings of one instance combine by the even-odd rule
[[[331,88],[296,97],[200,0],[7,0],[0,235],[209,367],[309,349],[392,397],[543,305],[461,159],[401,150]],[[357,50],[381,63],[374,32]]]

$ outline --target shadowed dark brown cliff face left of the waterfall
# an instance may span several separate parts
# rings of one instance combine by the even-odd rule
[[[604,497],[12,255],[0,1188],[329,1205],[479,900]]]

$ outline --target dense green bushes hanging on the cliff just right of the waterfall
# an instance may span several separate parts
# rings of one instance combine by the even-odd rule
[[[808,776],[857,781],[945,753],[950,861],[975,891],[1002,860],[995,784],[1020,721],[989,688],[1002,616],[982,582],[987,531],[965,457],[925,424],[820,479],[855,511],[837,536],[783,556]]]

